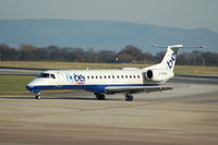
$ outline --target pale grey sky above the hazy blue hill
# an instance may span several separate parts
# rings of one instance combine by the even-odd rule
[[[0,0],[0,19],[112,20],[218,32],[218,0]]]

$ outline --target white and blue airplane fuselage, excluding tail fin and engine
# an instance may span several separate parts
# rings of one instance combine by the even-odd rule
[[[36,77],[27,88],[35,93],[43,89],[74,88],[105,93],[105,87],[108,86],[150,86],[166,81],[147,80],[144,73],[142,69],[46,71],[41,74],[47,75]]]

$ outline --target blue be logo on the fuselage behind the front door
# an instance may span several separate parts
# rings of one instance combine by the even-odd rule
[[[66,76],[66,80],[71,84],[75,84],[75,85],[85,84],[85,76],[83,76],[82,74],[70,74],[70,73],[66,73],[65,76]]]

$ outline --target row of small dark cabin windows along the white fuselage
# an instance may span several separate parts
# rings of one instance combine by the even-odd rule
[[[87,78],[140,78],[140,75],[87,75]]]

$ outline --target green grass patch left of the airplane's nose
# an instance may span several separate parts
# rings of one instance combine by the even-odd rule
[[[0,75],[0,95],[28,94],[25,87],[33,78],[33,76]]]

